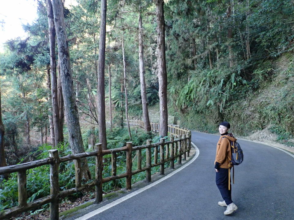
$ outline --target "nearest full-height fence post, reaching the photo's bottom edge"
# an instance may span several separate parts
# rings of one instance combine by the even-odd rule
[[[59,194],[59,156],[58,150],[49,150],[49,157],[53,158],[50,164],[50,194],[52,195],[52,201],[50,202],[50,219],[58,220],[58,194]]]

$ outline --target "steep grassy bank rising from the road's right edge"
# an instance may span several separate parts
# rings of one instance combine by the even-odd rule
[[[255,80],[251,81],[253,89],[247,91],[244,98],[226,103],[220,114],[222,119],[231,123],[231,131],[236,135],[252,140],[278,141],[290,150],[294,149],[293,54],[284,54],[276,60],[263,60],[252,75]],[[252,86],[254,83],[256,89]],[[187,112],[181,114],[182,126],[217,132],[219,115],[213,115],[209,110],[202,115],[193,109]]]

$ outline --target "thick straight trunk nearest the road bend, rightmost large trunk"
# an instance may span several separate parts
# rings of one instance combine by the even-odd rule
[[[163,0],[156,0],[156,20],[157,20],[157,68],[159,83],[159,112],[160,125],[159,134],[162,137],[168,135],[168,100],[167,100],[167,72],[165,63],[165,33],[164,33],[164,9]]]

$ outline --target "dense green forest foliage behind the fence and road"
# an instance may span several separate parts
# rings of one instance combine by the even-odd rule
[[[29,37],[9,40],[6,51],[0,54],[7,165],[43,158],[53,147],[62,155],[73,152],[63,118],[61,58],[57,44],[51,47],[48,2],[38,0],[38,19],[24,25]],[[214,133],[218,123],[227,120],[234,134],[250,135],[267,128],[278,135],[279,141],[294,146],[293,11],[293,1],[166,0],[167,97],[168,115],[172,116],[168,123],[179,121],[181,127]],[[75,6],[64,7],[63,13],[74,102],[83,147],[87,150],[101,139],[98,129],[101,105],[97,98],[101,92],[101,86],[97,86],[101,58],[100,1],[79,0]],[[161,108],[157,24],[156,5],[151,0],[107,1],[103,84],[106,119],[111,125],[106,133],[108,148],[124,146],[128,140],[140,145],[154,138],[148,131],[123,128],[123,119],[126,111],[130,119],[142,119],[145,114],[142,102],[145,102],[150,121],[160,120],[156,116]],[[52,48],[57,60],[55,84],[50,72]],[[146,101],[141,99],[140,51],[144,57]],[[56,106],[52,105],[52,99]],[[55,137],[52,121],[56,114],[52,112],[58,112],[61,122],[54,125],[62,131]],[[28,182],[39,181],[35,184],[39,188],[32,189],[31,200],[46,191],[43,171],[40,170],[39,178],[36,175],[36,171],[28,175]],[[70,187],[74,184],[73,175],[64,168],[60,182]],[[17,185],[12,180],[16,176],[12,176],[11,182],[2,182],[0,209],[17,204],[16,196],[11,194]],[[104,190],[110,190],[110,186]]]

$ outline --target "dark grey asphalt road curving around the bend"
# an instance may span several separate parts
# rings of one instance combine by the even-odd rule
[[[281,150],[239,140],[244,161],[235,167],[232,200],[239,207],[225,216],[215,185],[214,157],[219,136],[192,132],[199,156],[159,184],[89,220],[294,220],[294,158]]]

